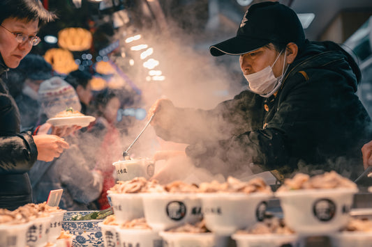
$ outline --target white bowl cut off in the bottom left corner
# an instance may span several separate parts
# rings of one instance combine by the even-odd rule
[[[30,223],[0,224],[0,246],[26,246],[26,232]]]

